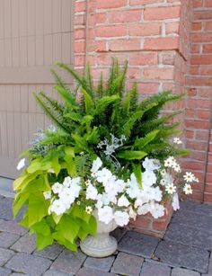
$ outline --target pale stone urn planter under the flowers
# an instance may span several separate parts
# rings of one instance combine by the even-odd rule
[[[110,256],[117,250],[117,240],[115,237],[110,236],[110,232],[113,231],[117,225],[114,220],[109,224],[105,224],[98,219],[97,211],[93,212],[93,216],[97,221],[97,230],[95,236],[87,236],[84,241],[80,243],[80,248],[84,252],[92,257],[102,258]]]

